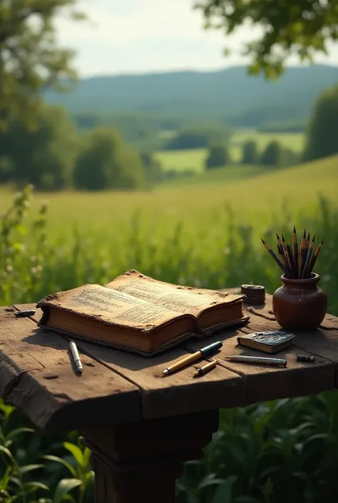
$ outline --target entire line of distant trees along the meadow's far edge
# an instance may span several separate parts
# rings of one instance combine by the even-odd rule
[[[63,108],[43,103],[36,104],[34,115],[34,123],[12,118],[0,131],[0,183],[29,182],[38,190],[136,190],[173,176],[163,172],[150,149],[135,151],[116,128],[96,126],[88,117],[79,131]],[[181,129],[166,145],[169,150],[206,147],[205,168],[229,166],[234,163],[230,133],[227,127],[201,124]],[[304,152],[277,141],[260,149],[252,138],[242,145],[240,163],[282,168],[333,154],[338,154],[338,86],[317,99]]]

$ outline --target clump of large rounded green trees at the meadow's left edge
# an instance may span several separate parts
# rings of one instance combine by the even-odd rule
[[[63,108],[40,104],[34,124],[16,119],[0,132],[0,183],[33,183],[38,190],[134,190],[163,176],[151,153],[136,153],[113,128],[79,135]]]

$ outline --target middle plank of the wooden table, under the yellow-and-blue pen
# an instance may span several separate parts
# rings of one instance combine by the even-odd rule
[[[16,306],[32,309],[34,304]],[[35,320],[41,317],[36,309]],[[188,350],[176,347],[162,355],[145,358],[128,352],[78,340],[78,349],[111,370],[126,377],[140,389],[142,416],[145,419],[183,415],[219,407],[220,397],[226,407],[243,405],[242,378],[235,372],[217,367],[202,377],[193,378],[195,367],[162,377],[165,367],[187,355]],[[199,345],[200,347],[200,345]]]

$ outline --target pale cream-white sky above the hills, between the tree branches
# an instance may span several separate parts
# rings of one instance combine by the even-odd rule
[[[194,0],[79,0],[88,21],[66,17],[56,22],[58,41],[75,49],[82,77],[179,70],[217,70],[246,64],[243,44],[259,34],[250,26],[225,37],[203,29],[202,11]],[[230,56],[224,56],[225,46]],[[338,65],[338,44],[316,63]],[[290,65],[297,64],[291,58]]]

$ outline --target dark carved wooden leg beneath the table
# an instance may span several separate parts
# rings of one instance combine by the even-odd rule
[[[174,503],[182,463],[203,457],[218,410],[82,431],[95,472],[96,503]]]

